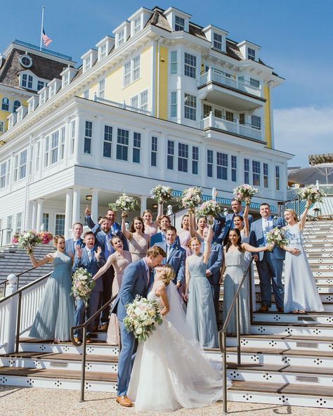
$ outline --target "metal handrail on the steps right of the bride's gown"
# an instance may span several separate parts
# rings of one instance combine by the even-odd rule
[[[251,266],[252,266],[252,259],[249,261],[249,265],[247,266],[246,271],[240,281],[240,285],[237,287],[235,296],[233,297],[233,301],[231,302],[231,306],[226,316],[226,320],[223,323],[223,328],[218,332],[218,344],[220,346],[220,351],[222,353],[222,377],[223,377],[223,413],[228,413],[227,411],[227,327],[228,323],[231,318],[231,314],[233,313],[233,308],[236,306],[236,338],[237,338],[237,365],[241,364],[241,356],[240,356],[240,290],[244,283],[244,280],[247,278],[247,273],[249,273],[249,281],[251,282]],[[252,301],[252,300],[251,300]]]

